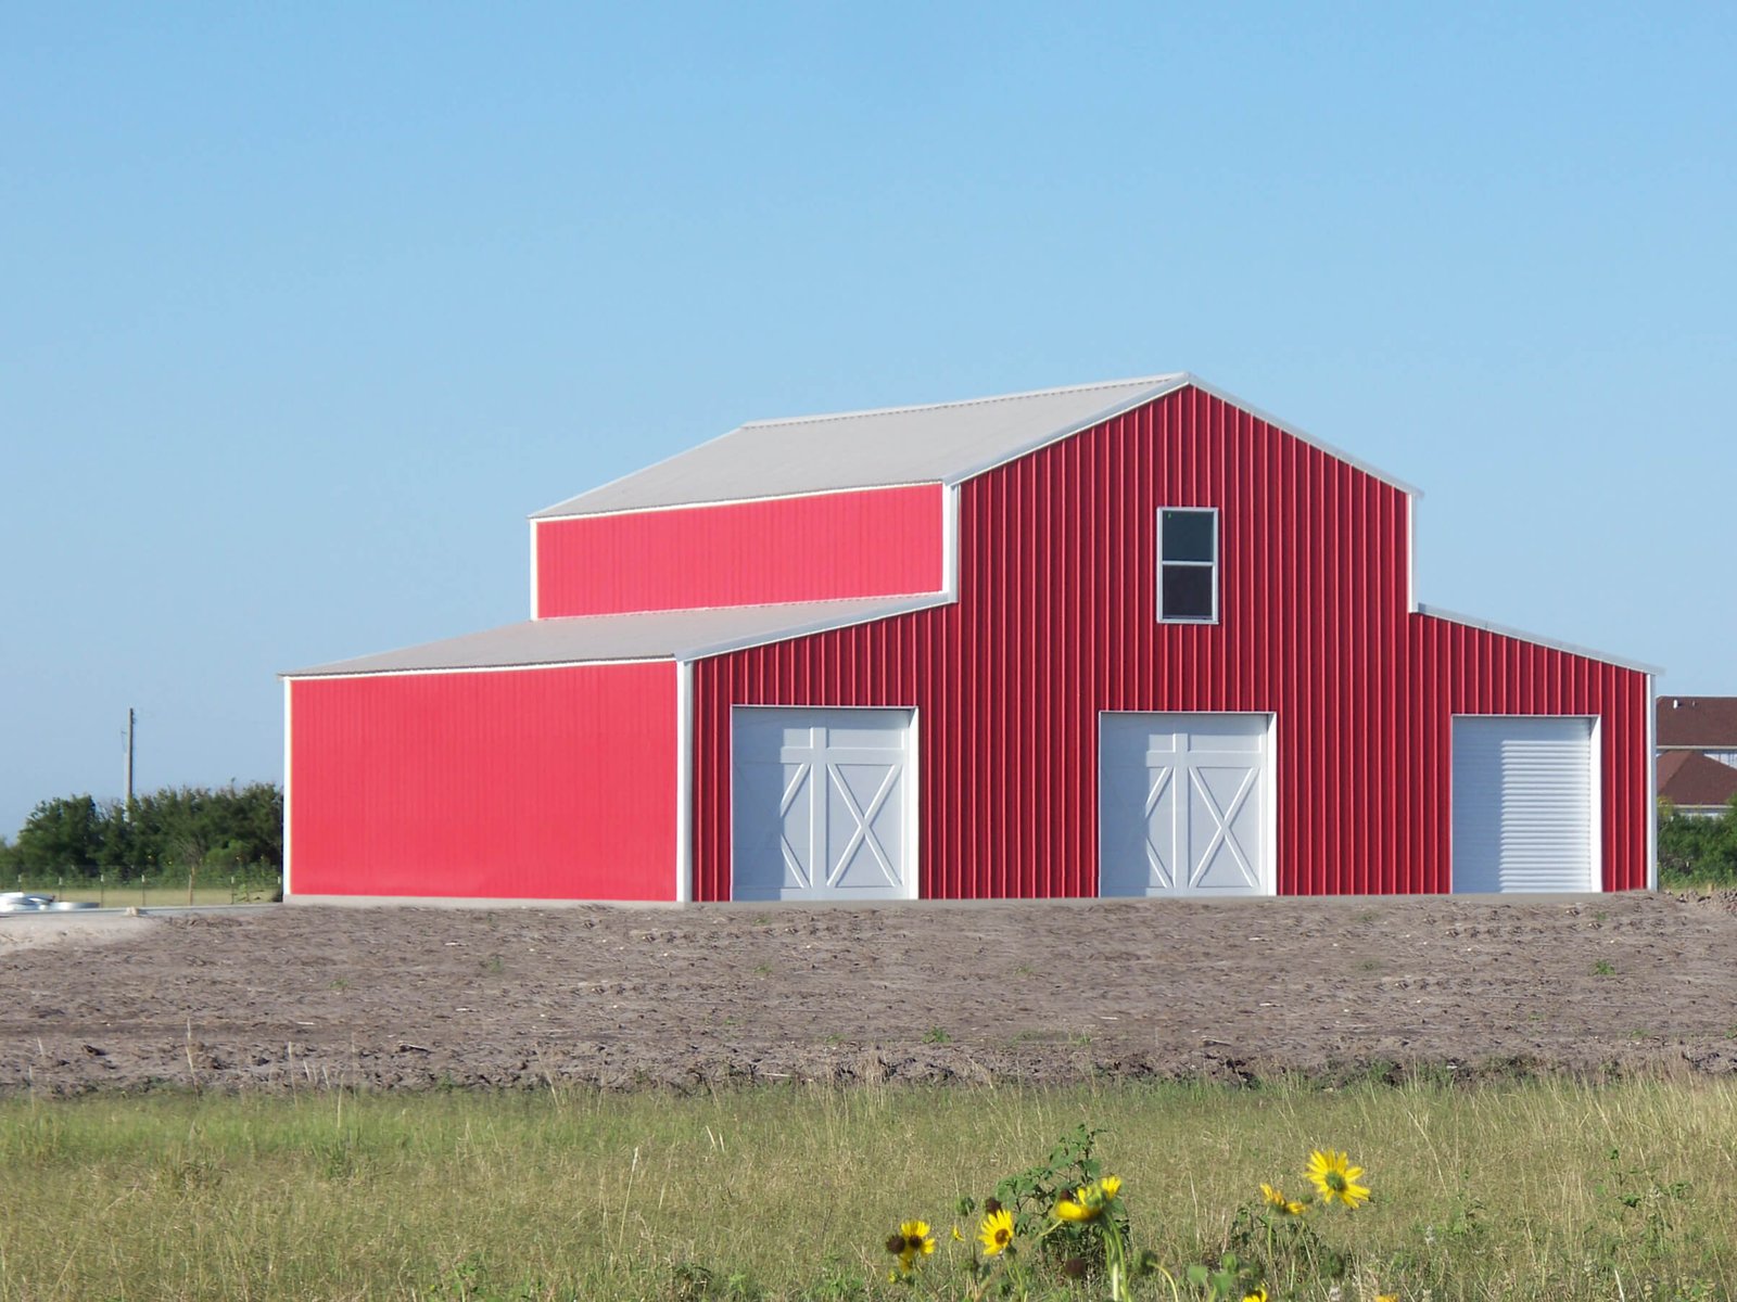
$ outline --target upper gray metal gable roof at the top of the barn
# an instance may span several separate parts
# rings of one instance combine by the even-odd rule
[[[957,484],[1186,385],[1245,411],[1252,410],[1186,372],[1174,372],[962,403],[754,420],[698,448],[538,510],[532,519],[889,484]],[[1271,417],[1261,418],[1395,488],[1417,491]]]

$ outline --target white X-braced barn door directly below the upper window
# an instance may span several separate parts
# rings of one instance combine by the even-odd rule
[[[1098,894],[1263,896],[1271,715],[1105,713]]]

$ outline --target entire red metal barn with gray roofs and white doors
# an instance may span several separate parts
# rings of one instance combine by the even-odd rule
[[[288,894],[1650,885],[1652,672],[1419,606],[1412,500],[1190,375],[743,425],[287,675]]]

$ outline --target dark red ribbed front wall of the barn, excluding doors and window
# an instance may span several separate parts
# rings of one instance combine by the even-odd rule
[[[695,898],[730,898],[730,707],[921,712],[921,892],[1096,892],[1101,710],[1277,715],[1282,894],[1450,887],[1456,712],[1596,713],[1647,884],[1645,675],[1407,609],[1405,495],[1188,389],[961,490],[959,602],[695,667]],[[1164,505],[1221,512],[1218,625],[1155,620]]]

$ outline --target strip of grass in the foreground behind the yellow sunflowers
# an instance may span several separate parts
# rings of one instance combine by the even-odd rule
[[[1082,1121],[1108,1128],[1134,1246],[1172,1269],[1336,1147],[1374,1191],[1320,1222],[1353,1252],[1346,1302],[1725,1297],[1734,1116],[1718,1082],[19,1097],[0,1302],[895,1297],[898,1220],[936,1226],[924,1274],[961,1279],[957,1200]]]

